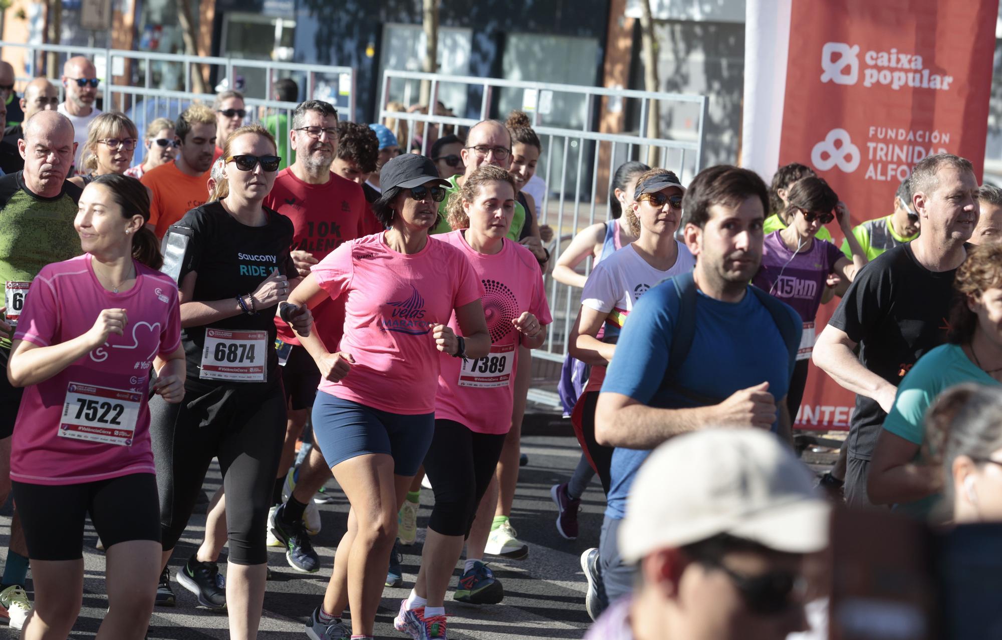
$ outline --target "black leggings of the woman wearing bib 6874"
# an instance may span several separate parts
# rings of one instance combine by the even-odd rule
[[[192,402],[193,410],[188,406]],[[176,404],[159,395],[151,398],[149,413],[163,550],[173,549],[184,533],[208,465],[218,457],[226,494],[229,562],[268,562],[265,528],[286,433],[281,382],[262,392],[260,384],[240,388],[238,383],[209,386],[191,381]]]

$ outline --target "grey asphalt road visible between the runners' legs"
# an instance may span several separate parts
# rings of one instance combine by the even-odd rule
[[[529,544],[530,553],[522,561],[496,559],[490,562],[495,576],[502,582],[505,600],[499,605],[477,607],[455,603],[447,595],[446,612],[449,614],[449,637],[465,638],[581,638],[590,620],[584,611],[585,580],[581,573],[581,552],[598,545],[604,509],[604,497],[597,479],[592,482],[582,501],[580,514],[581,535],[576,541],[561,538],[554,527],[555,507],[550,500],[550,487],[564,482],[577,463],[579,448],[573,436],[528,436],[523,438],[522,450],[529,455],[529,464],[519,475],[512,524],[519,538]],[[211,494],[221,482],[218,467],[213,464],[205,482]],[[321,555],[320,573],[304,576],[293,571],[286,563],[285,553],[270,550],[269,563],[273,580],[265,596],[265,615],[260,638],[304,638],[304,625],[313,609],[321,602],[331,576],[334,549],[345,531],[348,502],[337,490],[332,478],[329,492],[336,498],[334,504],[321,505],[323,531],[314,538]],[[421,511],[418,517],[418,542],[405,547],[404,587],[387,589],[383,595],[376,621],[376,637],[406,637],[394,630],[393,617],[413,586],[421,554],[421,541],[431,513],[432,495],[422,492]],[[54,506],[55,507],[55,506]],[[201,508],[202,510],[204,507]],[[171,560],[171,575],[193,553],[201,540],[205,516],[192,517],[185,537],[177,545]],[[6,554],[10,533],[10,509],[0,512],[0,544]],[[94,549],[96,535],[88,522],[84,539],[84,597],[83,609],[71,638],[95,636],[107,608],[104,596],[104,559]],[[223,551],[225,554],[225,551]],[[460,565],[461,566],[461,565]],[[220,563],[224,570],[224,563]],[[456,576],[459,575],[456,571]],[[177,606],[157,608],[150,622],[149,640],[187,640],[228,638],[226,616],[205,609],[195,608],[192,594],[172,581],[177,594]],[[455,585],[455,578],[453,580]],[[31,582],[27,589],[30,592]],[[15,637],[13,632],[7,632]]]

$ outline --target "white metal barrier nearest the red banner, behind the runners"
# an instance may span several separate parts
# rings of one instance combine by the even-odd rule
[[[454,106],[461,113],[476,113],[477,117],[388,108],[393,101],[402,102],[405,109],[416,106],[414,100],[420,81],[430,82],[431,104],[437,104],[441,95],[447,95],[446,99],[459,102],[448,106]],[[596,98],[603,97],[610,104],[607,108],[614,105],[627,113],[631,107],[629,101],[633,101],[634,112],[639,112],[639,122],[646,121],[647,109],[653,105],[658,113],[672,108],[676,111],[688,109],[690,123],[669,128],[668,135],[662,138],[644,137],[638,132],[600,132],[596,130],[600,119]],[[376,119],[384,123],[391,120],[391,128],[397,133],[405,133],[403,123],[407,123],[404,137],[408,139],[401,140],[404,150],[410,146],[410,132],[421,131],[420,144],[415,142],[415,146],[427,154],[431,150],[429,138],[434,134],[424,135],[425,127],[432,130],[430,127],[434,125],[445,133],[449,129],[470,127],[489,117],[503,120],[512,107],[529,114],[533,129],[543,143],[536,175],[543,178],[546,191],[542,204],[537,203],[537,214],[540,225],[549,225],[554,230],[550,247],[552,262],[579,231],[608,219],[607,202],[598,201],[607,199],[612,192],[612,176],[621,163],[646,162],[647,151],[653,147],[657,165],[674,171],[683,184],[700,169],[706,113],[706,97],[702,95],[387,70],[383,75]],[[589,258],[585,273],[590,269]],[[549,326],[546,342],[533,355],[559,362],[567,352],[567,337],[580,306],[581,290],[558,283],[548,275],[546,286],[553,323]]]

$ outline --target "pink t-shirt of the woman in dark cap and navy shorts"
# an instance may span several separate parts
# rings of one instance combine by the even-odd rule
[[[483,287],[463,252],[436,237],[408,255],[383,236],[346,242],[313,266],[332,298],[345,294],[340,350],[355,359],[343,380],[323,380],[320,390],[392,413],[431,413],[439,374],[431,327],[480,299]]]

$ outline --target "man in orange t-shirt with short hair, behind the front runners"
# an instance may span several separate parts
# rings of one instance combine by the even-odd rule
[[[204,104],[192,104],[177,116],[174,135],[180,149],[177,158],[149,170],[140,181],[151,194],[148,224],[157,238],[208,200],[205,183],[215,150],[215,113]]]

